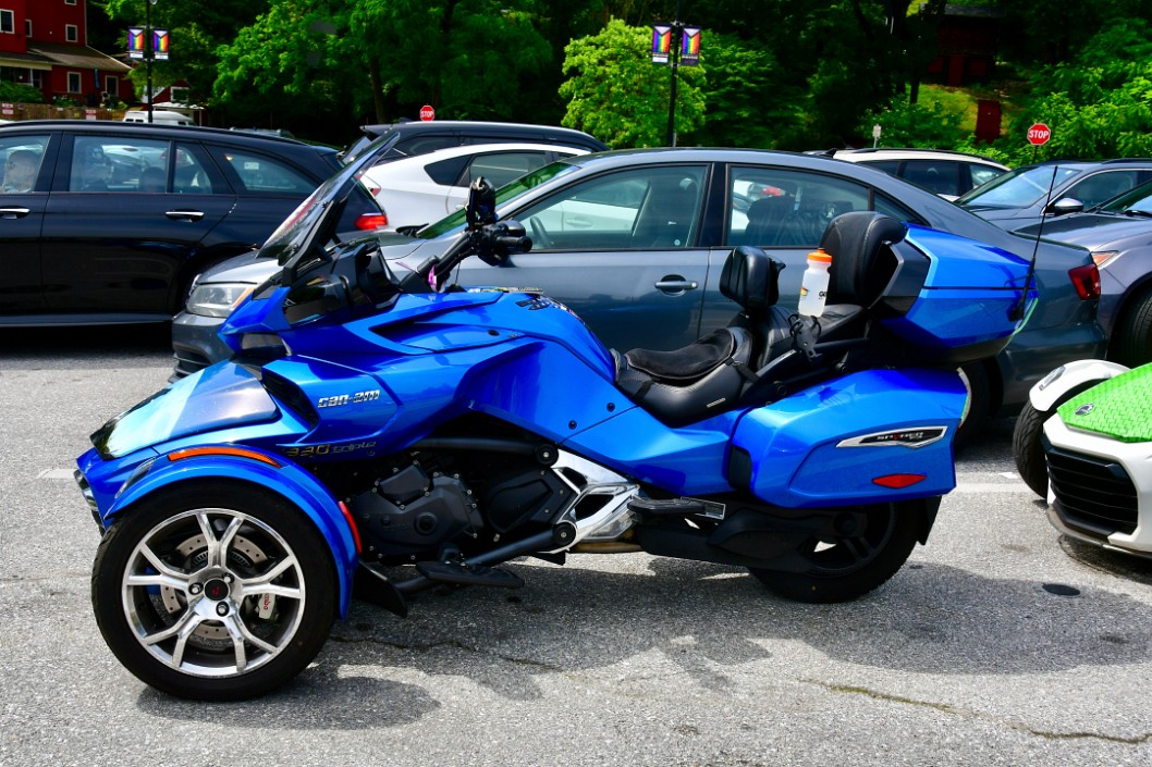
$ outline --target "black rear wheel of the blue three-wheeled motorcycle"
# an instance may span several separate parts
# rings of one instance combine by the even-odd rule
[[[811,538],[797,549],[808,568],[782,572],[749,568],[774,593],[799,602],[857,599],[894,576],[912,553],[923,529],[925,501],[866,508],[867,524],[854,536]]]

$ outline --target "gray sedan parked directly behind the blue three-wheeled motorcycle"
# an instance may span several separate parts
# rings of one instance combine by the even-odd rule
[[[529,229],[532,250],[499,267],[473,259],[457,281],[540,288],[617,349],[674,349],[725,325],[736,307],[718,283],[735,245],[758,245],[788,265],[781,303],[795,306],[808,252],[828,221],[849,211],[880,211],[1021,258],[1037,245],[880,170],[788,152],[662,149],[568,158],[503,187],[498,203],[501,217]],[[397,256],[418,248],[423,258],[446,249],[462,228],[457,213],[407,242],[402,235],[381,236]],[[964,370],[973,413],[1009,415],[1061,362],[1104,352],[1087,252],[1054,243],[1036,250],[1043,301],[1005,352]],[[202,363],[226,354],[212,339],[221,316],[205,317],[199,295],[238,296],[275,268],[267,259],[244,257],[202,276],[173,328],[184,367],[177,372],[191,367],[182,349],[195,347]],[[225,299],[214,307],[218,314],[226,311]]]

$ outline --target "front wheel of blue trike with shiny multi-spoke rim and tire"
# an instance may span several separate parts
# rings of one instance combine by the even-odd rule
[[[92,571],[97,624],[120,662],[197,700],[252,698],[303,670],[327,639],[336,590],[311,521],[237,481],[145,498],[105,533]]]

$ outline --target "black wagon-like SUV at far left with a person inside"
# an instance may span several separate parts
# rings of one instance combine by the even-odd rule
[[[275,136],[83,120],[0,126],[0,325],[168,321],[340,167]]]

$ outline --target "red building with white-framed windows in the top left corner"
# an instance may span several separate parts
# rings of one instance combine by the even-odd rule
[[[131,68],[88,46],[86,0],[0,0],[0,81],[31,85],[51,104],[130,101]]]

